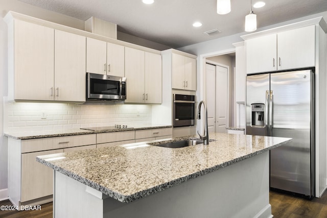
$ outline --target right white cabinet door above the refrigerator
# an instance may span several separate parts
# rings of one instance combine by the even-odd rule
[[[277,35],[278,69],[315,66],[315,26]]]

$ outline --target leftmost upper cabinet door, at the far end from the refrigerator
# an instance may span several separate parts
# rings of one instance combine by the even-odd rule
[[[53,100],[54,29],[14,21],[14,99]]]

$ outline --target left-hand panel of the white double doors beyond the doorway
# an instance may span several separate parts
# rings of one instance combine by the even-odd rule
[[[216,132],[216,66],[205,64],[208,131]]]

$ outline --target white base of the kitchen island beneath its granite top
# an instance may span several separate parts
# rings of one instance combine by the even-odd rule
[[[67,210],[78,217],[91,211],[92,217],[272,217],[269,152],[127,204],[96,198],[85,192],[86,185],[64,175],[56,176],[55,189],[55,217]],[[101,208],[103,215],[95,216]]]

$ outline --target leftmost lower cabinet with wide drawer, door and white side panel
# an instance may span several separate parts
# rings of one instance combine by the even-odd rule
[[[96,148],[96,134],[8,140],[9,199],[16,205],[52,201],[53,169],[37,156]]]

